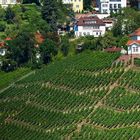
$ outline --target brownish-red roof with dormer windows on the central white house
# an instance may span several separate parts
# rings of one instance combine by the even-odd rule
[[[89,17],[80,17],[78,22],[78,26],[105,26],[105,23],[99,19],[97,16],[89,16]]]

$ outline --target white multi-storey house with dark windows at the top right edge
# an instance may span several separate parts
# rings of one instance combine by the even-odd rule
[[[127,7],[127,0],[99,0],[100,13],[118,12],[120,8]]]

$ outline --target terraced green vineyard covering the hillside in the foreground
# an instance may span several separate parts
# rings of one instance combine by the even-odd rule
[[[0,93],[0,140],[138,140],[140,72],[118,54],[56,61]]]

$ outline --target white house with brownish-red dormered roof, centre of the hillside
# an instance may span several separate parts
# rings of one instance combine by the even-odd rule
[[[75,36],[92,35],[94,37],[103,36],[106,31],[105,23],[97,16],[80,17],[75,27]]]

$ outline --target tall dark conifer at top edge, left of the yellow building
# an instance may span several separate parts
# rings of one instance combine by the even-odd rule
[[[42,6],[42,17],[50,25],[52,31],[57,31],[57,1],[44,0]]]

